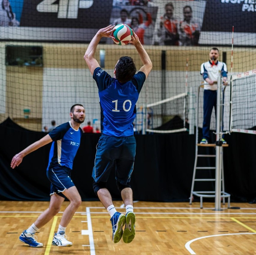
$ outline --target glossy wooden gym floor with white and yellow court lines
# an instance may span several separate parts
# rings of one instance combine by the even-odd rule
[[[72,247],[51,245],[62,213],[57,214],[37,232],[44,247],[32,248],[19,241],[49,202],[0,201],[1,255],[256,255],[256,206],[231,203],[227,209],[214,210],[214,203],[134,202],[136,236],[130,244],[114,244],[109,214],[100,202],[82,202],[67,227]],[[68,202],[64,202],[63,211]],[[117,210],[125,213],[121,201]]]

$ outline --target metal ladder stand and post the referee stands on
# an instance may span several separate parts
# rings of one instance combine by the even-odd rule
[[[196,124],[196,152],[195,152],[195,162],[194,162],[194,172],[192,178],[191,192],[190,192],[190,202],[191,205],[194,199],[194,196],[200,197],[200,208],[203,208],[203,198],[215,198],[215,211],[221,211],[221,199],[223,204],[225,204],[225,198],[228,200],[228,208],[230,208],[230,194],[225,192],[224,189],[224,168],[223,168],[223,147],[228,147],[228,144],[222,144],[221,138],[223,132],[221,132],[222,125],[222,113],[223,113],[223,94],[224,90],[221,90],[221,75],[219,75],[217,83],[217,113],[216,113],[216,143],[215,144],[200,144],[198,143],[198,113],[199,113],[199,93],[200,88],[203,88],[203,85],[198,87],[197,95],[197,124]],[[202,149],[209,149],[210,147],[215,148],[215,154],[198,154],[198,147]],[[207,149],[207,151],[209,151]],[[215,158],[215,166],[198,166],[199,158]],[[215,170],[215,178],[197,178],[198,170]],[[215,181],[215,190],[213,191],[195,191],[195,182],[213,182]]]

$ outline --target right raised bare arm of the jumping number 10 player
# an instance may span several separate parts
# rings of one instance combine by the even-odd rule
[[[143,65],[139,69],[139,71],[142,71],[143,73],[145,73],[146,78],[147,78],[148,74],[150,73],[150,71],[152,69],[152,62],[151,62],[151,60],[150,60],[150,58],[148,56],[148,53],[144,49],[143,45],[139,41],[139,38],[134,33],[134,31],[133,31],[132,40],[130,41],[130,43],[132,43],[135,46],[136,50],[139,53],[140,59],[141,59],[141,61],[143,63]]]

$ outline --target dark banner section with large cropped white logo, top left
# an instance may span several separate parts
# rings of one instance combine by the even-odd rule
[[[100,28],[111,10],[112,0],[24,0],[20,26]]]

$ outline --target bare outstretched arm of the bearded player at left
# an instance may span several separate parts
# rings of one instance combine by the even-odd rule
[[[26,147],[24,150],[20,151],[19,153],[17,153],[11,160],[11,168],[15,168],[16,166],[20,165],[20,163],[22,162],[22,159],[28,155],[29,153],[31,153],[34,150],[37,150],[38,148],[49,144],[50,142],[52,142],[52,138],[50,137],[49,134],[45,135],[43,138],[41,138],[40,140],[34,142],[33,144],[30,144],[28,147]]]

